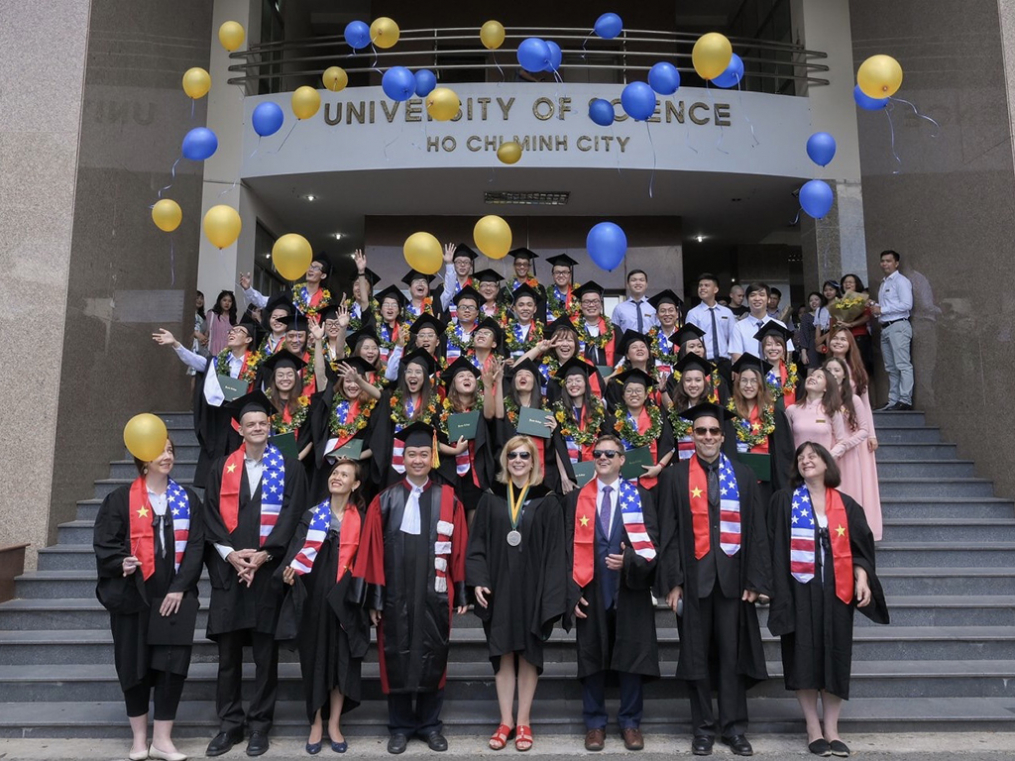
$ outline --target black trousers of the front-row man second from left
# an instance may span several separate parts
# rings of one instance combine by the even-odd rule
[[[244,643],[254,651],[254,694],[244,716],[241,702],[244,676]],[[218,684],[215,708],[219,730],[233,732],[244,724],[251,732],[271,731],[278,692],[278,643],[272,634],[253,630],[229,631],[218,635]]]

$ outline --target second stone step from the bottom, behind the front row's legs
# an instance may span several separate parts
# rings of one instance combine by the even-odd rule
[[[749,693],[752,702],[788,695],[782,679],[782,663],[771,661],[767,668],[769,679]],[[676,662],[663,662],[660,669],[663,678],[646,685],[646,698],[656,701],[685,695],[683,684],[673,677]],[[184,687],[184,702],[214,700],[216,671],[215,664],[192,663]],[[278,700],[301,699],[299,665],[281,663],[278,673]],[[253,665],[248,653],[244,665],[245,700],[250,699],[253,676]],[[381,700],[378,665],[364,663],[362,677],[363,698]],[[448,700],[495,700],[496,690],[489,663],[449,664],[446,695]],[[0,716],[7,714],[8,704],[55,702],[69,706],[79,702],[122,701],[122,696],[116,671],[110,664],[60,667],[59,674],[33,666],[0,666],[0,705],[4,705]],[[854,662],[850,696],[905,698],[906,701],[913,696],[947,700],[971,697],[1015,698],[1015,663],[902,660]],[[573,663],[545,664],[536,694],[538,710],[535,713],[541,713],[542,704],[552,700],[573,701],[578,717],[581,718],[582,685],[577,678]],[[120,704],[123,705],[122,702]],[[853,700],[850,705],[853,705]],[[210,717],[214,718],[214,711]],[[126,724],[125,717],[121,720]],[[1012,720],[1015,721],[1015,717]],[[753,719],[751,723],[753,727]]]

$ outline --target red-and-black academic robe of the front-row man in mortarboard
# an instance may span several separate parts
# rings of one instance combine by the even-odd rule
[[[366,510],[356,575],[366,579],[365,607],[383,611],[378,629],[381,687],[385,694],[444,688],[451,616],[466,604],[465,552],[469,531],[465,508],[455,497],[446,592],[434,589],[433,545],[441,499],[450,486],[432,479],[419,498],[420,533],[401,531],[410,488],[402,480],[378,494]],[[453,491],[453,490],[452,490]],[[365,573],[363,572],[365,570]],[[376,579],[383,573],[384,583]]]

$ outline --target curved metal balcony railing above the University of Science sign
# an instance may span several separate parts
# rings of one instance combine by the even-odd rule
[[[406,29],[390,50],[373,46],[352,51],[340,34],[254,44],[230,54],[229,84],[250,93],[280,92],[302,84],[321,86],[329,66],[341,66],[352,86],[379,84],[384,69],[406,66],[431,69],[442,83],[513,80],[520,72],[515,51],[529,37],[552,40],[560,46],[559,74],[566,82],[625,84],[645,79],[659,61],[669,61],[680,71],[682,84],[701,85],[691,66],[691,50],[698,34],[680,31],[624,29],[611,41],[590,36],[582,28],[512,27],[499,50],[488,51],[476,27]],[[827,54],[792,43],[731,38],[744,62],[741,88],[755,92],[806,94],[811,85],[828,84],[820,76],[828,71],[821,61]],[[551,74],[546,74],[548,80]]]

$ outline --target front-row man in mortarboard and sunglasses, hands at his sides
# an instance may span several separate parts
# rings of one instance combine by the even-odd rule
[[[757,479],[722,452],[726,413],[700,404],[690,420],[694,455],[660,478],[663,552],[660,584],[677,614],[677,678],[687,682],[694,755],[712,753],[716,735],[738,756],[753,754],[747,688],[767,679],[754,603],[770,594],[767,533]],[[746,634],[745,634],[746,632]],[[712,705],[709,651],[719,672],[719,721]]]

